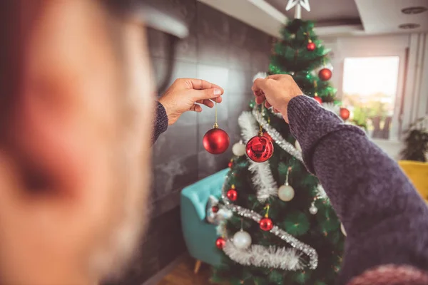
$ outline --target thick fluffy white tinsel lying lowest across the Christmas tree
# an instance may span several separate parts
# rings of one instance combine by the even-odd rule
[[[233,261],[246,266],[253,265],[289,271],[304,268],[300,261],[300,254],[297,254],[295,249],[275,246],[263,247],[253,244],[249,249],[242,250],[237,249],[232,240],[228,239],[223,251]]]

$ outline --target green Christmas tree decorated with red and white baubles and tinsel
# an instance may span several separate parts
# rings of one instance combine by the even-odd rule
[[[312,22],[295,19],[282,29],[269,73],[290,74],[305,95],[346,119],[349,112],[336,107],[336,90],[329,83],[328,51],[313,28]],[[317,177],[303,165],[289,126],[254,100],[239,124],[243,142],[262,134],[272,140],[274,150],[267,162],[259,163],[250,159],[243,142],[233,146],[222,195],[222,207],[233,216],[218,227],[216,245],[224,258],[213,281],[334,284],[345,229]]]

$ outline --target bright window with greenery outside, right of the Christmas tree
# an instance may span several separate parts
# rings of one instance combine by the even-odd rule
[[[345,58],[343,105],[374,139],[397,138],[399,56]]]

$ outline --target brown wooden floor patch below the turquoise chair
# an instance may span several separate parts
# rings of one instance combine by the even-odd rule
[[[194,274],[193,269],[195,259],[185,257],[158,285],[213,285],[210,282],[211,269],[208,264],[202,264],[198,274]]]

